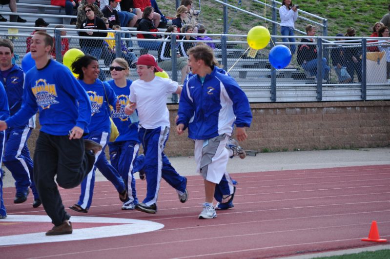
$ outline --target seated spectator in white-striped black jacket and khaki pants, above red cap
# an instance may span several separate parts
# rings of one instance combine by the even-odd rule
[[[166,32],[174,32],[177,33],[178,29],[176,25],[171,25],[166,29]],[[168,35],[166,37],[166,40],[170,40],[171,37]],[[182,84],[185,80],[185,76],[189,72],[189,66],[188,66],[188,59],[186,57],[183,57],[180,55],[180,51],[178,48],[175,48],[177,51],[175,53],[172,53],[172,55],[176,55],[176,69],[179,71],[182,71]],[[161,67],[163,70],[166,71],[172,71],[172,56],[171,56],[171,42],[170,41],[164,41],[163,44],[161,44],[159,52],[158,52],[158,63],[159,67]]]

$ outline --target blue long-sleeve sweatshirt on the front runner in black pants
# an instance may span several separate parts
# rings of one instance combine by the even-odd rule
[[[5,121],[8,127],[21,126],[38,110],[41,131],[47,134],[65,136],[74,126],[88,132],[88,96],[70,70],[57,61],[49,60],[45,67],[26,73],[21,109]]]

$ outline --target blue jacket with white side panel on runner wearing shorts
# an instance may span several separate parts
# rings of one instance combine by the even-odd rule
[[[237,82],[214,67],[202,80],[190,77],[179,102],[179,119],[188,127],[188,138],[211,139],[232,132],[232,124],[249,127],[252,113],[249,101]]]

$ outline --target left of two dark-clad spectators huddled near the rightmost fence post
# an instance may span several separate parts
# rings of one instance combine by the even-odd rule
[[[336,35],[336,37],[342,37],[342,36],[344,35],[341,33]],[[343,39],[336,39],[336,40],[343,40]],[[351,76],[349,76],[347,71],[347,59],[344,53],[345,53],[345,48],[341,45],[332,48],[330,52],[332,65],[339,79],[339,83],[349,83],[351,81]]]

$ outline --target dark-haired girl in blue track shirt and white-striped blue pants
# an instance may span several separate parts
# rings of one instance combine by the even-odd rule
[[[79,201],[69,207],[74,211],[87,213],[92,203],[96,168],[99,169],[105,178],[112,182],[119,193],[121,201],[126,201],[128,197],[123,179],[118,171],[108,163],[104,153],[111,128],[109,105],[116,107],[117,97],[108,83],[103,83],[98,79],[100,70],[98,60],[95,57],[85,55],[78,58],[72,64],[72,71],[79,75],[79,82],[87,92],[91,102],[89,133],[84,136],[84,139],[92,139],[103,146],[103,149],[95,155],[94,168],[82,181]]]

